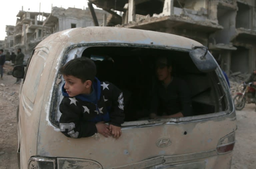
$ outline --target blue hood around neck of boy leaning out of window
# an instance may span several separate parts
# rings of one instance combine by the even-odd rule
[[[66,90],[65,90],[65,88],[64,88],[64,85],[65,85],[65,83],[64,83],[64,84],[62,85],[62,87],[61,87],[62,95],[63,95],[64,97],[69,97],[69,96],[68,96],[68,93],[66,92]],[[97,100],[99,100],[99,99],[100,99],[100,95],[101,95],[101,85],[100,85],[100,81],[95,77],[94,82],[92,83],[92,85],[93,85],[94,91],[97,93]],[[78,94],[78,95],[76,95],[76,96],[74,96],[74,97],[75,97],[75,98],[78,98],[78,99],[80,99],[80,100],[82,100],[82,101],[89,101],[89,102],[91,102],[91,100],[86,99],[86,98],[83,96],[83,94]]]

